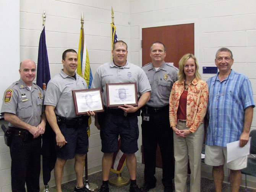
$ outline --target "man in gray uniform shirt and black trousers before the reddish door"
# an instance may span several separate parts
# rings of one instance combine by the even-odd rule
[[[151,85],[151,98],[142,108],[142,140],[144,155],[144,184],[141,191],[147,192],[156,186],[156,149],[160,147],[163,166],[162,183],[165,192],[172,191],[174,178],[173,131],[169,122],[169,96],[177,81],[178,69],[164,62],[165,46],[155,42],[150,47],[152,62],[142,67]]]

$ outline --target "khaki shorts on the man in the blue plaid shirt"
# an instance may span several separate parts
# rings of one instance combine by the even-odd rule
[[[211,166],[220,166],[227,163],[227,147],[205,146],[204,162]],[[231,170],[241,170],[247,166],[247,156],[240,157],[227,163],[227,168]]]

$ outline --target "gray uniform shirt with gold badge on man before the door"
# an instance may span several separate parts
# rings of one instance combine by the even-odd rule
[[[157,71],[152,63],[144,65],[142,69],[152,89],[146,105],[155,108],[168,106],[172,85],[177,81],[178,68],[164,62]]]

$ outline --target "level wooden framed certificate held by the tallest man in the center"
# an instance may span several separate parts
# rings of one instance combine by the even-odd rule
[[[107,107],[138,106],[136,83],[107,83]]]

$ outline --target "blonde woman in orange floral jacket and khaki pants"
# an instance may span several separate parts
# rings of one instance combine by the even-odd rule
[[[199,192],[201,183],[201,150],[204,138],[204,116],[208,87],[201,80],[198,62],[193,54],[179,61],[178,81],[170,94],[170,126],[173,129],[175,157],[175,192],[186,192],[188,159],[190,192]]]

